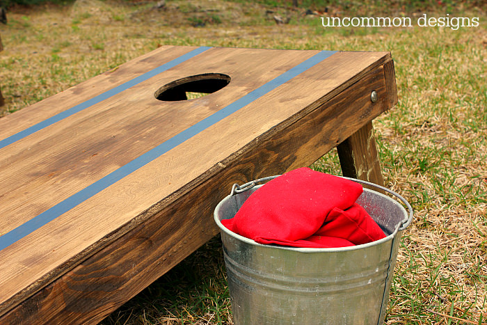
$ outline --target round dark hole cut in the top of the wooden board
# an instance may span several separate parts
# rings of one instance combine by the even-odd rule
[[[159,88],[154,97],[165,102],[188,100],[214,93],[230,84],[230,77],[221,73],[198,74],[172,81]]]

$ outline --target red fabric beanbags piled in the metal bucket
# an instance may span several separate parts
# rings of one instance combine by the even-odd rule
[[[285,173],[257,189],[221,223],[260,244],[330,248],[369,243],[385,234],[355,201],[362,185],[310,168]]]

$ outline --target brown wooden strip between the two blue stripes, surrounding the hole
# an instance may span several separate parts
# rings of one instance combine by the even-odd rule
[[[317,51],[312,51],[305,58],[315,53]],[[275,54],[276,67],[265,75],[262,70],[269,64],[262,54],[255,59],[253,68],[246,65],[221,68],[232,75],[232,84],[218,92],[218,96],[208,95],[198,102],[155,100],[154,93],[159,86],[181,75],[200,74],[211,71],[215,65],[224,66],[229,56],[232,60],[239,59],[238,51],[224,51],[218,58],[214,54],[211,57],[211,53],[202,54],[198,58],[198,68],[193,68],[195,63],[192,61],[183,63],[119,96],[42,129],[35,136],[0,149],[3,154],[0,166],[5,175],[3,191],[0,189],[0,212],[17,216],[1,219],[0,229],[7,232],[16,228],[207,118],[218,111],[218,107],[232,102],[234,97],[241,97],[303,61],[299,51],[294,51],[294,56],[292,54],[285,51]]]

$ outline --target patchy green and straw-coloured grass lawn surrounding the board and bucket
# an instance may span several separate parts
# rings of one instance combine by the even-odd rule
[[[157,8],[77,0],[10,8],[8,24],[0,24],[0,116],[161,45],[391,51],[399,103],[374,127],[385,184],[413,205],[415,220],[399,248],[386,322],[487,324],[486,5],[298,2],[167,0]],[[418,26],[423,14],[478,17],[479,26]],[[413,26],[325,28],[320,17],[327,15],[410,17]],[[340,175],[336,151],[312,168]],[[102,324],[233,324],[219,238]]]

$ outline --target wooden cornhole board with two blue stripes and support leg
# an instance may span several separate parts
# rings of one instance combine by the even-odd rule
[[[1,118],[0,323],[99,322],[218,233],[234,183],[337,146],[381,183],[396,102],[388,52],[164,46]]]

